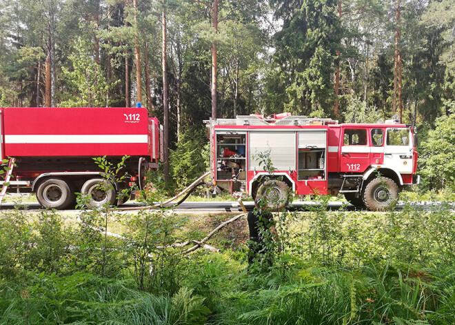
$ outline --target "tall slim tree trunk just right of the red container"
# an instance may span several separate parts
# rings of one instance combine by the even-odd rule
[[[166,40],[166,9],[163,0],[163,113],[164,113],[164,180],[169,180],[169,104],[168,104],[168,69],[167,69],[167,40]]]

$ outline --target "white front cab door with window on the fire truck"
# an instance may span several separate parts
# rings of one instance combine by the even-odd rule
[[[384,147],[384,166],[400,174],[412,174],[411,130],[408,128],[387,128]]]

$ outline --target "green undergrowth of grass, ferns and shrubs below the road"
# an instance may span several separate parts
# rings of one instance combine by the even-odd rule
[[[247,226],[226,215],[85,210],[0,217],[0,324],[455,324],[455,213],[276,213],[273,264],[247,266]],[[118,237],[105,226],[118,224]],[[213,227],[212,227],[213,226]],[[239,238],[241,238],[239,240]]]

